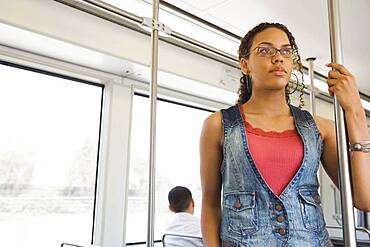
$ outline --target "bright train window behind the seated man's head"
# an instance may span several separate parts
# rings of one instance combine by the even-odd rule
[[[146,97],[134,96],[126,242],[146,240],[149,164],[149,111]],[[172,218],[167,195],[177,185],[192,191],[200,216],[199,137],[211,112],[159,100],[156,135],[155,239],[161,239]]]

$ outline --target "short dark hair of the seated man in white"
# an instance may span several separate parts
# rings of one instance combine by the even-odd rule
[[[184,212],[192,200],[191,192],[188,188],[176,186],[168,193],[170,208],[175,212]]]

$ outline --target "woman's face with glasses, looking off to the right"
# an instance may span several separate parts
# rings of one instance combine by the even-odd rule
[[[278,28],[267,28],[254,37],[249,57],[240,61],[243,72],[252,77],[253,90],[285,88],[293,70],[291,48],[288,36]]]

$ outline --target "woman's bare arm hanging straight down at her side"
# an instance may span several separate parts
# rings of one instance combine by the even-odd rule
[[[201,228],[207,247],[220,247],[221,174],[223,130],[221,113],[209,116],[200,138],[200,175],[202,181]]]

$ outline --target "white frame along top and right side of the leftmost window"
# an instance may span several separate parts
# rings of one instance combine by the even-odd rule
[[[125,174],[128,171],[133,86],[124,84],[122,77],[111,73],[97,71],[3,45],[0,45],[0,61],[3,65],[102,88],[97,155],[97,169],[100,170],[96,177],[91,244],[121,246],[121,243],[124,242],[123,229],[126,214],[124,199],[118,200],[118,198],[127,197],[127,178]],[[127,96],[125,102],[120,100],[122,95]],[[112,124],[125,125],[128,128],[114,128]],[[115,136],[120,138],[117,140]],[[112,148],[117,142],[118,146]],[[115,166],[120,167],[120,169],[118,171],[114,170]],[[113,179],[108,179],[112,177],[112,174],[115,175]],[[117,186],[117,183],[119,186]],[[115,192],[116,195],[119,195],[118,197],[112,196],[110,193],[104,194],[108,188],[115,188],[116,186],[120,188]],[[111,204],[115,204],[121,209],[122,217],[119,221],[114,222],[117,214],[109,208]],[[104,224],[105,222],[114,222],[114,224]],[[112,234],[109,235],[109,233]]]

